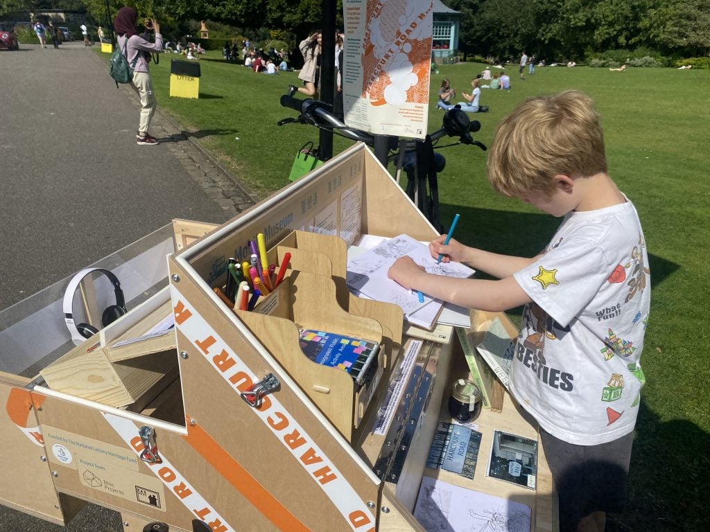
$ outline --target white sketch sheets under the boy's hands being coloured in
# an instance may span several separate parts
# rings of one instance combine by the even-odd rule
[[[393,262],[403,255],[409,255],[414,262],[422,265],[428,273],[446,275],[447,277],[469,277],[474,273],[468,266],[458,262],[442,262],[437,264],[429,253],[429,247],[408,235],[399,235],[377,245],[371,250],[350,258],[347,265],[346,282],[350,292],[364,294],[377,301],[399,305],[405,315],[413,314],[422,306],[434,301],[424,294],[421,303],[417,294],[401,287],[387,277],[387,272]],[[441,301],[436,301],[439,307]]]

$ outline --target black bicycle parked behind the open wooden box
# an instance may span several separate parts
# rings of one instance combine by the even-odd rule
[[[461,111],[458,107],[446,111],[442,127],[420,140],[373,135],[367,131],[346,126],[333,114],[332,105],[324,101],[302,100],[284,94],[281,96],[281,105],[298,111],[300,115],[297,118],[280,120],[279,126],[286,123],[309,124],[375,148],[375,153],[380,155],[378,159],[384,166],[395,160],[397,182],[399,182],[401,170],[404,170],[407,174],[407,186],[405,187],[407,195],[432,223],[432,226],[443,233],[446,231],[439,220],[438,174],[444,170],[446,159],[444,155],[436,153],[435,150],[459,144],[474,145],[481,150],[486,150],[483,143],[471,137],[471,133],[476,133],[481,129],[481,123],[476,120],[471,121],[466,112]],[[451,144],[438,145],[439,139],[444,136],[458,137],[459,140]]]

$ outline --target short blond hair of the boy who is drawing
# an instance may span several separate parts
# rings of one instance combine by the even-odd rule
[[[554,177],[606,173],[604,137],[591,98],[579,91],[525,100],[498,124],[488,181],[501,194],[550,193]]]

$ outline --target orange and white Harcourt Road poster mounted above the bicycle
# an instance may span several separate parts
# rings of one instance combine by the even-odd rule
[[[345,123],[377,135],[427,134],[431,0],[344,0]]]

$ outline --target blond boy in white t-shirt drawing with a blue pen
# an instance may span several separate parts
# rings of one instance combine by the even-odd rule
[[[484,311],[525,305],[510,393],[535,417],[559,495],[559,530],[603,531],[621,512],[638,415],[639,359],[650,305],[638,214],[609,177],[599,116],[568,91],[520,104],[501,121],[488,179],[552,216],[564,216],[536,257],[498,255],[446,235],[432,257],[498,280],[427,274],[400,257],[389,276],[403,287]]]

